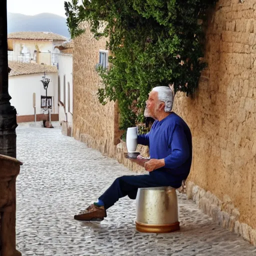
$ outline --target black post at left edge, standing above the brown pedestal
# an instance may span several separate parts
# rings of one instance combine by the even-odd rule
[[[7,6],[0,1],[0,154],[16,157],[16,109],[8,93]]]

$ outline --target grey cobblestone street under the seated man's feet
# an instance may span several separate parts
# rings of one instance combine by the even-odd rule
[[[120,175],[116,160],[61,134],[59,128],[17,127],[16,243],[29,255],[256,255],[256,248],[214,224],[178,196],[180,231],[139,233],[135,200],[121,198],[101,222],[80,222],[84,209]]]

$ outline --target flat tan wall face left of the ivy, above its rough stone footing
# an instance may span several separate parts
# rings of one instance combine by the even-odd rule
[[[99,49],[105,49],[105,38],[96,40],[86,23],[85,32],[74,39],[73,53],[73,135],[89,134],[102,146],[114,141],[114,103],[101,105],[97,99],[100,79],[95,70]]]

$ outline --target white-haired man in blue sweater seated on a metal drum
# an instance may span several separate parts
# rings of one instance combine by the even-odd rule
[[[150,160],[136,159],[149,172],[144,175],[121,176],[78,215],[77,220],[102,220],[106,209],[119,198],[128,195],[135,199],[140,187],[172,186],[178,188],[188,176],[192,160],[192,139],[184,120],[171,111],[172,90],[167,86],[154,87],[146,101],[148,114],[155,121],[147,134],[138,135],[137,142],[149,146]]]

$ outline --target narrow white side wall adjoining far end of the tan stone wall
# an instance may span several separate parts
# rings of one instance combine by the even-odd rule
[[[60,101],[64,103],[65,111],[68,111],[68,82],[70,84],[70,113],[73,113],[73,57],[71,54],[58,55],[58,75],[60,81]],[[65,75],[65,95],[64,95],[64,75]]]

